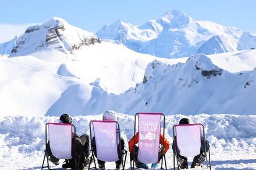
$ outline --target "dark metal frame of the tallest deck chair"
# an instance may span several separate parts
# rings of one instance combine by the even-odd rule
[[[135,161],[134,161],[134,159],[132,159],[132,155],[133,155],[133,158],[135,158],[135,135],[136,135],[136,117],[139,115],[139,114],[146,114],[146,115],[152,115],[152,114],[162,114],[162,116],[163,116],[163,142],[164,142],[164,137],[165,137],[165,115],[163,114],[163,113],[136,113],[135,115],[134,115],[134,141],[133,141],[133,143],[134,143],[134,146],[133,146],[133,149],[132,149],[132,154],[130,154],[130,166],[131,166],[131,170],[134,170],[134,163],[135,163]],[[162,118],[161,118],[162,119]],[[162,122],[162,121],[161,121]],[[161,127],[160,127],[161,128]],[[160,134],[161,134],[161,132],[160,132]],[[165,158],[165,154],[164,154],[164,143],[163,143],[163,148],[162,148],[162,163],[161,163],[161,169],[164,169],[163,168],[163,159],[164,159],[164,162],[165,162],[165,170],[167,170],[167,165],[166,165],[166,158]],[[133,165],[132,165],[132,162],[133,162]]]

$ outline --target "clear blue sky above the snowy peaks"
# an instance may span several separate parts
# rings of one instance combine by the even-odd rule
[[[0,23],[42,23],[53,16],[96,33],[120,19],[140,25],[175,8],[195,20],[209,20],[256,33],[255,0],[52,0],[0,1]]]

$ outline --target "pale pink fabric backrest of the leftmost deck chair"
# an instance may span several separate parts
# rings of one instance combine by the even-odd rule
[[[72,124],[47,123],[52,155],[59,159],[71,159]],[[47,134],[46,134],[47,136]]]

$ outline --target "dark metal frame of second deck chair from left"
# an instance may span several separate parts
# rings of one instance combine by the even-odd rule
[[[123,167],[123,169],[124,169],[124,167],[125,167],[125,162],[126,162],[126,156],[127,156],[127,150],[125,150],[125,152],[123,153],[122,152],[122,150],[121,150],[121,140],[120,140],[120,138],[121,138],[121,133],[120,133],[120,128],[119,128],[119,123],[118,122],[116,122],[116,121],[90,121],[90,123],[89,123],[89,125],[90,125],[90,140],[92,141],[92,123],[93,122],[102,122],[102,123],[108,123],[108,122],[115,122],[116,124],[117,124],[117,130],[118,131],[116,131],[116,135],[118,134],[118,140],[119,140],[119,144],[118,144],[118,147],[119,147],[119,149],[118,149],[118,151],[119,151],[119,155],[121,156],[121,163],[122,163],[122,167]],[[95,139],[96,140],[96,139]],[[96,147],[96,146],[95,146]],[[92,169],[92,168],[95,168],[95,170],[97,170],[97,166],[96,166],[96,163],[95,163],[95,157],[94,157],[94,153],[95,153],[95,151],[96,151],[96,149],[92,146],[92,142],[91,142],[91,151],[92,151],[92,156],[91,156],[91,159],[90,159],[90,163],[89,163],[89,167],[88,167],[88,169]],[[123,160],[123,156],[122,155],[125,155],[125,158],[124,158],[124,160]],[[93,160],[94,160],[94,167],[91,167],[90,168],[90,166],[91,166],[91,162],[92,162],[92,158],[93,158]],[[104,160],[103,160],[104,161]]]

